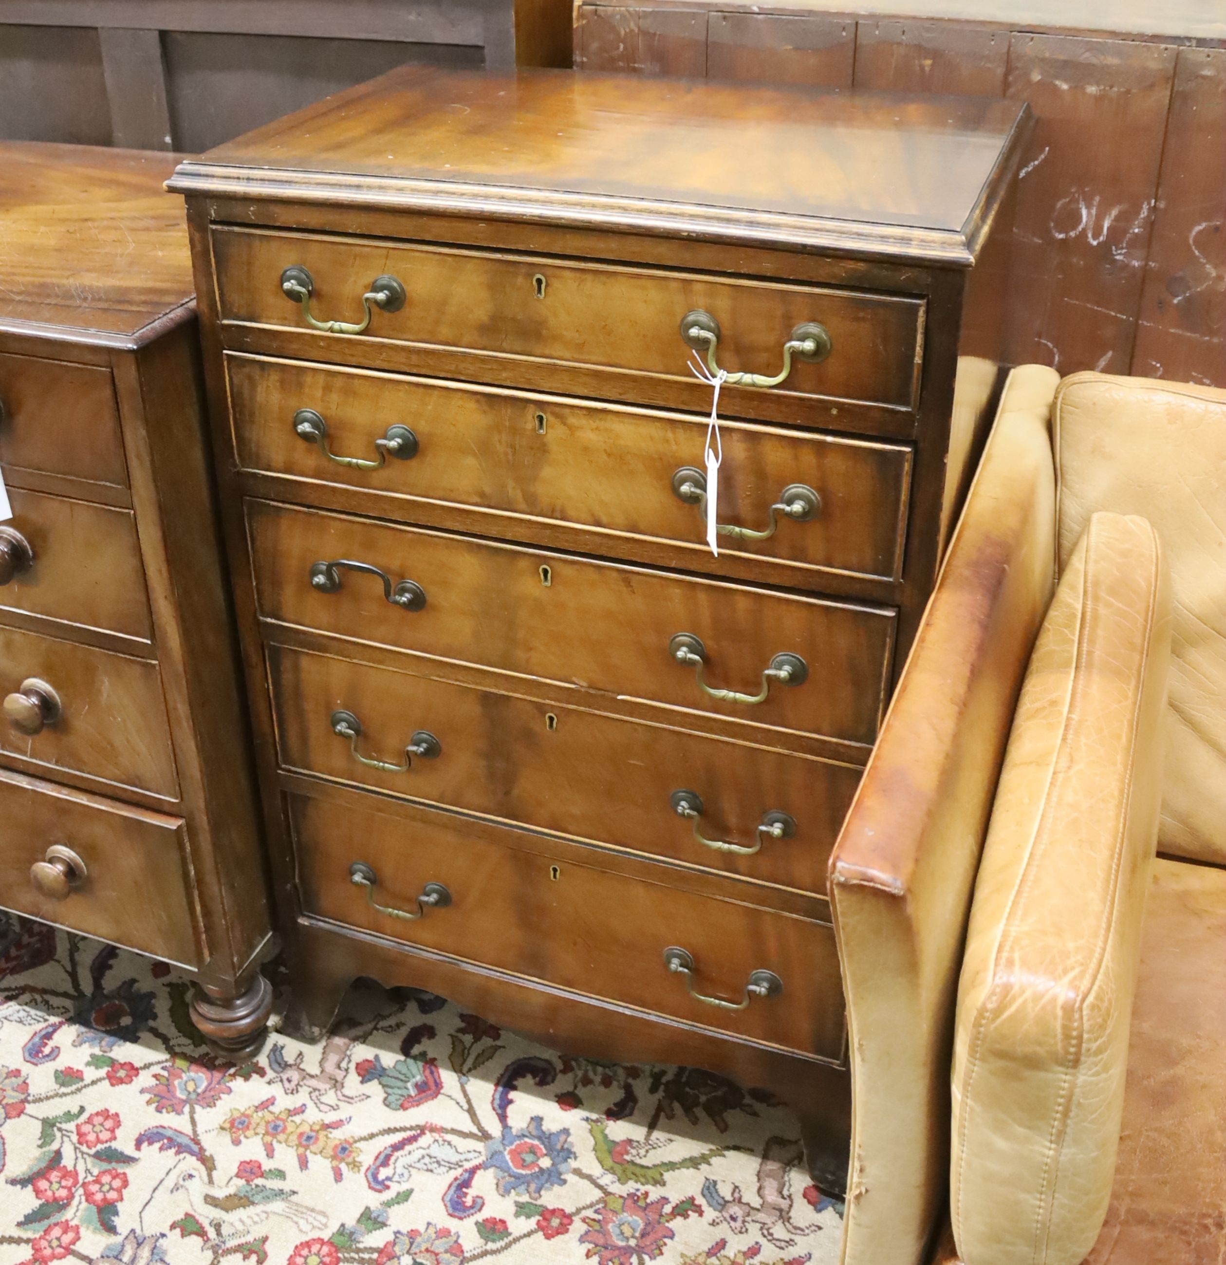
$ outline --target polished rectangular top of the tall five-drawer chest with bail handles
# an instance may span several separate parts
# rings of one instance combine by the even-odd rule
[[[401,67],[171,187],[970,263],[1025,105]]]

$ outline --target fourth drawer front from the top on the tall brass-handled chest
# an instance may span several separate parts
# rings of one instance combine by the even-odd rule
[[[846,764],[283,646],[268,648],[268,673],[283,768],[819,894],[860,779]],[[335,732],[338,711],[358,719],[356,743]],[[438,739],[437,758],[406,758],[419,731]]]

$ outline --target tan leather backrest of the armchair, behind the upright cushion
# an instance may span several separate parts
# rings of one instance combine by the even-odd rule
[[[1159,849],[1226,865],[1226,391],[1102,373],[1055,397],[1059,549],[1097,510],[1154,524],[1174,645]]]

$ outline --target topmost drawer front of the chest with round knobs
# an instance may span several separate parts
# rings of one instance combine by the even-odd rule
[[[108,369],[0,355],[0,466],[128,486],[115,390]]]

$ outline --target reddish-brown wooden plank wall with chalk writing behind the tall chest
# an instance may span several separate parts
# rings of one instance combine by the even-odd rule
[[[1226,48],[1001,24],[581,4],[576,65],[1029,101],[1008,354],[1226,387]]]

